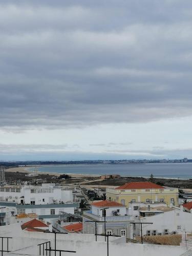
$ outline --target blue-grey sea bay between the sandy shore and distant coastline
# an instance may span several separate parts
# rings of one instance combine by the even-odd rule
[[[28,167],[34,171],[35,167]],[[38,166],[39,172],[60,174],[103,175],[190,179],[192,163],[146,163],[146,164],[70,164]]]

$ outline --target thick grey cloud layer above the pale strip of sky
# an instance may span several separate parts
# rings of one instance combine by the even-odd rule
[[[191,116],[192,3],[99,3],[1,2],[2,129]]]

